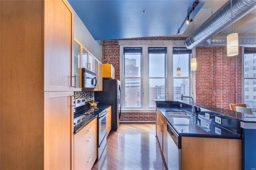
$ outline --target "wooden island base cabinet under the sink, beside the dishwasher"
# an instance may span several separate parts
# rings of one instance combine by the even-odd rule
[[[164,118],[160,111],[156,112],[156,135],[160,144],[161,151],[164,155],[164,159],[168,162],[167,156],[167,120]]]

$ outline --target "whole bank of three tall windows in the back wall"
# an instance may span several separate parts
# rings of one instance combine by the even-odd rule
[[[120,67],[120,80],[124,85],[122,91],[126,92],[121,103],[124,109],[150,109],[155,108],[154,99],[177,100],[181,94],[191,96],[192,50],[172,45],[120,45],[121,55],[122,52],[120,64],[124,67]],[[181,68],[180,77],[177,77],[177,66]],[[175,68],[170,69],[172,67]]]

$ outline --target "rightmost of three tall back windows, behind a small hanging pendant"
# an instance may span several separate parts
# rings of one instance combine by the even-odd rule
[[[189,59],[191,50],[185,47],[173,48],[173,91],[174,99],[181,99],[181,94],[190,95],[190,72]],[[180,76],[177,75],[177,68],[180,67]],[[188,98],[185,98],[187,100]]]

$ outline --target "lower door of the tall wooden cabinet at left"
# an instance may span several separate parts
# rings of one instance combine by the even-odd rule
[[[44,169],[70,169],[72,92],[44,92]]]

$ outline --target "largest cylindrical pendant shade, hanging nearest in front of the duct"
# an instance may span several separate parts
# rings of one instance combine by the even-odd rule
[[[229,34],[227,36],[227,55],[238,55],[238,33]]]

